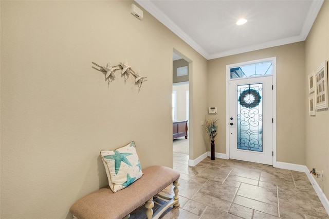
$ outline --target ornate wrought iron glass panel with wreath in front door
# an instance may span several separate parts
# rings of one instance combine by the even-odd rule
[[[237,86],[237,149],[263,152],[263,84]]]

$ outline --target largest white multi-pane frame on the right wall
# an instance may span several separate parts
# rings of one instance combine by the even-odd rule
[[[315,109],[328,108],[328,70],[324,61],[314,74],[315,80]]]

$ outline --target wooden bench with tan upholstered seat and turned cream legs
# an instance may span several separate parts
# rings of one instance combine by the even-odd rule
[[[130,213],[144,205],[148,219],[159,218],[169,207],[179,207],[178,178],[180,174],[168,167],[152,166],[143,169],[143,176],[130,186],[114,193],[109,187],[88,194],[74,203],[70,212],[79,219],[129,218]],[[159,192],[174,185],[174,197],[166,197]],[[153,197],[167,199],[153,214]]]

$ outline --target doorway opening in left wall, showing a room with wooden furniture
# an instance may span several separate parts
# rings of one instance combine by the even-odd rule
[[[173,52],[173,167],[187,165],[190,150],[189,62]]]

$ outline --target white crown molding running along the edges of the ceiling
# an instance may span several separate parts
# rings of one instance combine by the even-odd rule
[[[152,16],[155,17],[155,19],[157,19],[159,22],[165,25],[168,29],[170,29],[173,33],[175,33],[181,40],[183,40],[188,45],[190,45],[194,50],[200,53],[207,60],[304,41],[306,40],[307,35],[310,29],[312,28],[313,23],[315,22],[317,15],[322,7],[322,4],[324,3],[324,0],[312,1],[312,5],[308,10],[300,35],[291,36],[289,38],[284,38],[284,39],[266,42],[262,44],[246,46],[238,49],[232,49],[223,52],[209,54],[199,44],[197,44],[188,34],[182,31],[166,14],[164,14],[161,10],[159,10],[159,8],[156,7],[151,1],[144,1],[144,0],[134,0],[134,1],[138,3],[141,7],[143,7],[145,10],[147,10]]]

